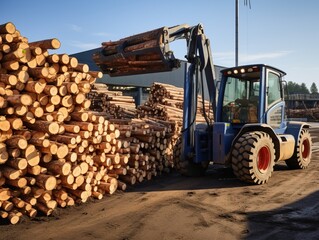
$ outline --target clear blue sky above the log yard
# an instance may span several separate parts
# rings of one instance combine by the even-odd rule
[[[239,0],[239,64],[265,63],[286,80],[319,86],[319,1]],[[202,23],[214,63],[235,63],[235,0],[1,0],[0,23],[29,42],[58,38],[56,53],[77,53],[162,26]],[[172,45],[177,57],[185,42]]]

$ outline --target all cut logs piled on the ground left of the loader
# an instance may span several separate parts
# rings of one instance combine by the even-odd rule
[[[181,89],[155,83],[137,114],[59,47],[0,25],[0,217],[12,224],[125,190],[180,153]]]

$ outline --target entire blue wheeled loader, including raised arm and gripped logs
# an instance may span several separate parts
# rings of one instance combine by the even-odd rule
[[[209,163],[226,164],[241,180],[264,184],[274,165],[307,168],[312,154],[309,124],[287,121],[283,77],[285,72],[265,64],[236,66],[215,78],[210,41],[203,26],[178,25],[102,43],[94,55],[110,76],[171,71],[180,62],[169,43],[185,39],[189,63],[184,79],[181,173],[198,175]],[[196,124],[197,95],[208,89],[214,120]],[[218,96],[217,96],[218,95]]]

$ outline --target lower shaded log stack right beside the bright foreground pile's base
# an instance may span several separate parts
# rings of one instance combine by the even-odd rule
[[[134,185],[173,167],[167,154],[170,126],[156,119],[111,119],[110,122],[121,132],[120,156],[127,156],[127,174],[115,177]]]

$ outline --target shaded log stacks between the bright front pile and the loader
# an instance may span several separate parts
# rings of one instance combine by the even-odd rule
[[[105,84],[95,83],[92,89],[87,94],[92,101],[90,109],[94,114],[105,117],[121,132],[120,140],[123,144],[120,152],[127,154],[129,167],[126,171],[128,174],[120,175],[120,179],[134,184],[137,179],[142,181],[145,174],[150,179],[178,167],[183,121],[182,88],[155,82],[151,86],[148,100],[138,107],[136,117],[123,114],[127,111],[133,113],[132,97],[110,91]],[[197,123],[205,121],[201,101],[199,96]],[[204,101],[204,104],[205,111],[212,119],[208,102]]]

